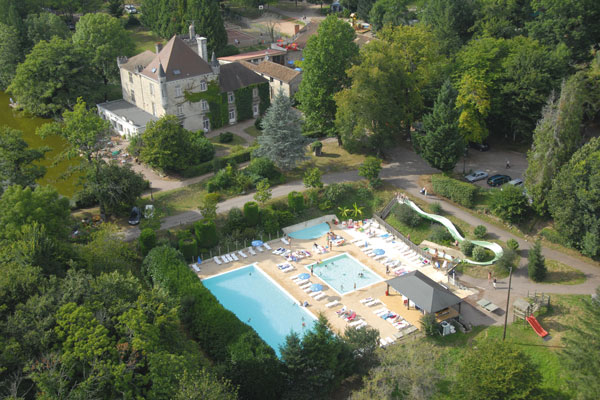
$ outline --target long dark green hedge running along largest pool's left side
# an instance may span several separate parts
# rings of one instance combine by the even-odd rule
[[[275,351],[219,303],[188,268],[181,253],[169,246],[155,247],[144,259],[143,272],[155,286],[179,300],[180,317],[188,332],[218,364],[215,368],[234,385],[240,385],[240,398],[281,398],[283,377]],[[249,343],[251,349],[247,349]]]

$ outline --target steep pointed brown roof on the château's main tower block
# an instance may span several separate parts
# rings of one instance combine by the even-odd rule
[[[142,74],[158,80],[160,65],[165,71],[167,82],[212,73],[210,65],[176,35],[154,55],[154,59],[146,65]]]

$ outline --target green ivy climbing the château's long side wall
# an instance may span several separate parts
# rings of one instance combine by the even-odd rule
[[[264,114],[271,104],[269,98],[269,83],[259,83],[250,85],[234,92],[235,108],[238,121],[244,121],[254,116],[252,111],[252,89],[258,87],[258,96],[260,98],[259,112]],[[229,123],[229,103],[227,93],[221,93],[218,81],[211,81],[204,92],[185,92],[185,99],[191,103],[197,103],[201,100],[208,102],[210,128],[218,129]]]

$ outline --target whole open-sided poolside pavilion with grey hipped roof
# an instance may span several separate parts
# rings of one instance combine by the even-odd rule
[[[462,299],[421,271],[416,270],[389,279],[386,284],[388,294],[392,288],[402,295],[402,303],[407,309],[412,307],[421,313],[436,314],[439,322],[460,314]],[[458,306],[458,309],[455,306]]]

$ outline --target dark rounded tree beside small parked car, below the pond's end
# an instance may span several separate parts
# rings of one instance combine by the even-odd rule
[[[148,182],[141,173],[128,164],[121,166],[112,161],[100,164],[97,170],[89,169],[83,190],[96,198],[100,210],[107,215],[127,215],[147,188]]]

